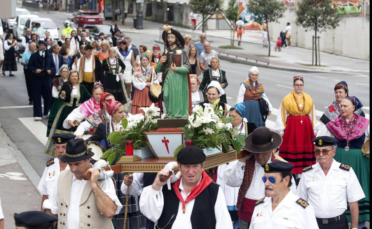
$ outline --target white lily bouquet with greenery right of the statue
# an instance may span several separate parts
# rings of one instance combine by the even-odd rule
[[[243,146],[244,139],[235,136],[237,128],[232,127],[232,117],[223,118],[222,108],[215,109],[217,104],[205,103],[204,109],[201,106],[195,106],[192,115],[188,117],[188,124],[180,129],[185,131],[185,140],[193,140],[193,145],[199,148],[218,148],[221,152],[223,145],[228,152],[230,145],[232,145],[234,150],[239,153],[241,145],[235,141],[235,137],[240,143],[243,143]],[[185,144],[177,147],[174,157],[184,147]]]

